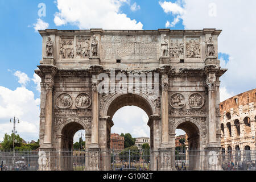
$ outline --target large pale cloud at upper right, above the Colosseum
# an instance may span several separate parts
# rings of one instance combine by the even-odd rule
[[[216,28],[222,30],[218,38],[218,52],[228,54],[228,71],[221,77],[221,86],[229,94],[239,94],[255,88],[256,83],[256,1],[183,0],[169,6],[160,3],[164,12],[181,16],[185,29]],[[167,2],[166,2],[167,4]],[[172,7],[170,7],[172,5]],[[182,10],[179,7],[182,8]],[[169,23],[170,24],[170,23]],[[226,94],[228,96],[228,94]]]

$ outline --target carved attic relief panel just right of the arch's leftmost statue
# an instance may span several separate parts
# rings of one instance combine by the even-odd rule
[[[73,37],[65,37],[60,40],[60,59],[73,59],[75,50],[73,46]]]

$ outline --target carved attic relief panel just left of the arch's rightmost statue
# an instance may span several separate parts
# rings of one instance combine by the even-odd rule
[[[200,39],[199,38],[187,38],[186,57],[187,58],[201,58]]]

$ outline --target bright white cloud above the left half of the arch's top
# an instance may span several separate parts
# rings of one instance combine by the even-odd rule
[[[67,23],[78,26],[80,29],[129,29],[141,30],[143,24],[127,17],[120,12],[123,0],[94,0],[94,1],[64,1],[57,0],[57,9],[54,22],[56,26]]]

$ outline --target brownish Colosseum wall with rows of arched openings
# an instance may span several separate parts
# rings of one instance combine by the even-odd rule
[[[255,151],[255,99],[256,89],[253,89],[220,103],[222,154],[250,158]]]

